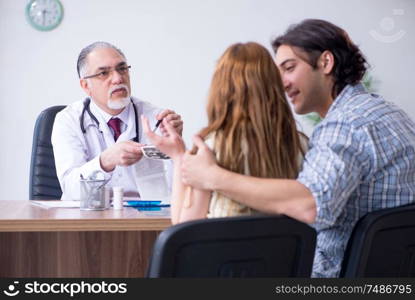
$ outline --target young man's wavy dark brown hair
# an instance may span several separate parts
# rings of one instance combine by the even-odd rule
[[[303,51],[307,56],[296,53],[314,69],[321,53],[328,50],[333,53],[334,66],[331,74],[334,78],[332,90],[336,97],[347,84],[356,84],[362,80],[367,62],[360,49],[350,40],[349,35],[340,27],[318,19],[307,19],[294,24],[272,42],[277,52],[281,45],[293,47],[293,51]]]

